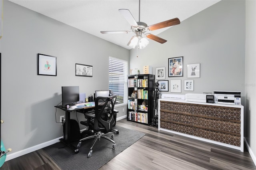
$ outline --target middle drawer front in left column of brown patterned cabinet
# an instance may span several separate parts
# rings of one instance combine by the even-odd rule
[[[193,125],[193,116],[161,111],[160,119]]]

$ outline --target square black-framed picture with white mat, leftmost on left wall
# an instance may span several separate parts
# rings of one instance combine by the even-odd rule
[[[57,76],[57,57],[37,54],[37,75]]]

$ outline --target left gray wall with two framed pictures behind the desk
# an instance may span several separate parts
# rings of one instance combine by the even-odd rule
[[[123,47],[9,1],[3,29],[1,137],[12,153],[62,136],[55,112],[57,121],[65,113],[54,108],[62,101],[62,86],[77,85],[86,96],[108,89],[108,57],[129,59]],[[57,76],[37,75],[37,53],[57,57]],[[75,76],[75,63],[92,65],[93,77]],[[118,117],[125,114],[118,109]],[[84,115],[78,113],[78,120]]]

